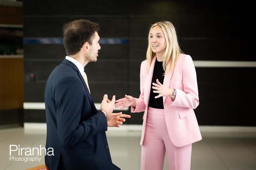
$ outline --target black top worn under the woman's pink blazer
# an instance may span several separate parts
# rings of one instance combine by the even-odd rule
[[[159,97],[155,99],[155,96],[158,96],[159,93],[153,93],[153,88],[152,88],[152,83],[157,84],[157,79],[161,84],[164,82],[164,68],[163,68],[163,62],[159,62],[156,60],[155,66],[154,66],[154,71],[153,71],[153,76],[152,76],[152,81],[151,81],[151,88],[150,88],[150,95],[149,95],[149,107],[157,108],[157,109],[164,109],[164,104],[163,104],[163,97]]]

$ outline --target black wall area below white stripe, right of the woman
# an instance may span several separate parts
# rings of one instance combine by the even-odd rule
[[[256,68],[196,68],[199,106],[195,113],[200,125],[256,126],[256,83],[248,73]]]

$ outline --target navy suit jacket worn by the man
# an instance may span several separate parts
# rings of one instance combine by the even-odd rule
[[[74,63],[64,59],[45,87],[47,136],[45,164],[50,170],[116,170],[105,131],[107,121]]]

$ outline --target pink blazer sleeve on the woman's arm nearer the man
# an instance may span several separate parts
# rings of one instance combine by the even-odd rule
[[[146,62],[146,61],[144,61]],[[140,64],[140,97],[135,98],[136,101],[136,107],[131,106],[131,112],[143,112],[145,111],[146,104],[144,102],[144,81],[145,76],[144,73],[145,70],[143,70],[143,62]]]

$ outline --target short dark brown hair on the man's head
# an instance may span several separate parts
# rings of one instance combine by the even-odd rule
[[[74,20],[63,26],[63,44],[67,55],[74,55],[80,51],[83,44],[92,45],[94,32],[99,30],[97,23],[86,19]]]

